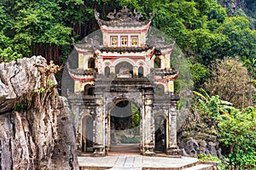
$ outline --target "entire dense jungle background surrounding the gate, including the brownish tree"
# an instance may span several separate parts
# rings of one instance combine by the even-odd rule
[[[0,63],[42,55],[65,65],[72,37],[80,42],[99,29],[94,9],[108,20],[123,5],[142,12],[143,20],[154,11],[152,26],[175,39],[189,62],[195,95],[187,122],[193,122],[178,133],[218,137],[223,156],[197,155],[201,160],[256,168],[254,0],[1,0]]]

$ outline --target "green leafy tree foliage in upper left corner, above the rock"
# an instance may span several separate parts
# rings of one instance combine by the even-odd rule
[[[3,26],[0,26],[0,37],[3,37],[0,48],[9,46],[23,57],[30,57],[35,53],[36,48],[39,48],[37,44],[52,44],[60,47],[70,45],[72,28],[63,23],[61,2],[25,0],[3,3],[3,7],[0,6],[0,25],[3,23]],[[66,1],[66,3],[83,2]]]

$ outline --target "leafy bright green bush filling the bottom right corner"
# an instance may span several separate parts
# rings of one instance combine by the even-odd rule
[[[229,169],[247,169],[256,167],[256,110],[247,107],[244,111],[235,108],[229,114],[222,115],[218,122],[220,142],[230,148],[227,157]]]

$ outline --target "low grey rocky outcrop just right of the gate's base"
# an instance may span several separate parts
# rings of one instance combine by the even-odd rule
[[[177,122],[177,144],[183,156],[203,154],[222,159],[218,131],[208,126],[198,111],[183,110],[178,114]]]

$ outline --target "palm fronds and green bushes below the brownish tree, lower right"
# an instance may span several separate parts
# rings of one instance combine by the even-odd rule
[[[212,121],[218,129],[222,148],[229,151],[224,156],[228,169],[251,168],[256,164],[256,108],[247,107],[240,111],[217,95],[210,97],[201,89],[195,92],[195,109],[201,112],[204,120]],[[206,118],[207,117],[207,118]]]

